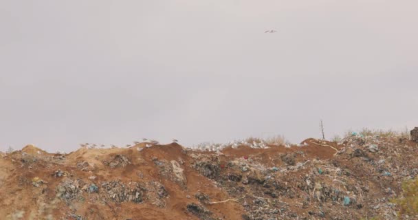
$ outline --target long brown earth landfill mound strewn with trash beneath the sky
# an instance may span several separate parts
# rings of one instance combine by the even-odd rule
[[[217,151],[146,142],[53,154],[30,145],[1,153],[0,216],[396,219],[393,198],[417,176],[417,151],[404,137],[355,133],[338,143],[240,142]]]

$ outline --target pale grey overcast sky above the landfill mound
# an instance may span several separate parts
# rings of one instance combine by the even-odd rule
[[[418,1],[0,0],[0,150],[418,126]],[[265,34],[265,30],[277,30]]]

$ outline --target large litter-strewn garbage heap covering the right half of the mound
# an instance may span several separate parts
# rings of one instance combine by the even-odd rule
[[[297,153],[285,153],[280,155],[283,166],[235,159],[219,168],[219,157],[201,155],[192,167],[232,198],[242,198],[238,201],[247,212],[243,219],[395,219],[391,201],[400,193],[399,183],[417,177],[412,166],[417,159],[407,165],[397,159],[408,157],[411,148],[405,144],[395,137],[355,133],[342,140],[331,159],[300,160]],[[382,192],[379,199],[373,198],[377,192]],[[294,207],[283,201],[292,201]]]

